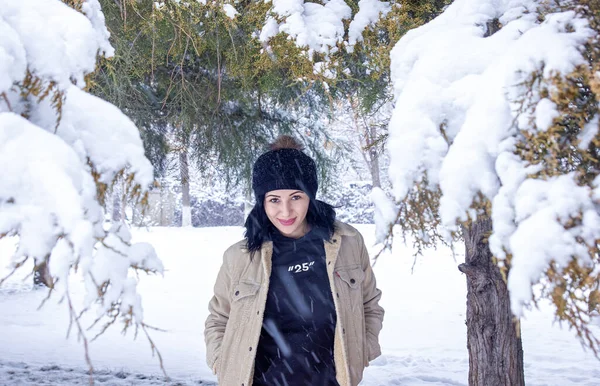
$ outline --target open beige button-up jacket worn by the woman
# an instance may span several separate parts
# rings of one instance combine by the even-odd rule
[[[272,242],[265,242],[252,261],[245,240],[227,249],[208,308],[204,337],[206,360],[222,386],[250,386],[271,276]],[[381,354],[378,336],[383,322],[381,291],[375,285],[361,234],[336,222],[325,242],[327,273],[337,324],[334,339],[336,378],[355,386],[369,361]]]

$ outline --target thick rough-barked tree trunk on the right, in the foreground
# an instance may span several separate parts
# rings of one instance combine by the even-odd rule
[[[492,220],[479,218],[463,228],[467,276],[469,385],[522,386],[523,346],[519,321],[510,310],[508,288],[492,260],[487,238]]]

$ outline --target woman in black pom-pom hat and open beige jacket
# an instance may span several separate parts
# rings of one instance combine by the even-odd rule
[[[281,136],[254,164],[256,205],[227,249],[204,332],[222,386],[355,386],[383,308],[360,233],[315,199],[315,162]]]

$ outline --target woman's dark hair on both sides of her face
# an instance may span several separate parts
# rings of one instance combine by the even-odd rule
[[[271,235],[276,230],[267,217],[264,201],[264,196],[257,197],[256,204],[244,224],[246,228],[244,237],[250,252],[250,259],[260,249],[262,243],[271,240]],[[335,208],[323,201],[311,199],[308,204],[306,221],[310,225],[311,231],[318,232],[322,235],[323,240],[330,240],[335,232]]]

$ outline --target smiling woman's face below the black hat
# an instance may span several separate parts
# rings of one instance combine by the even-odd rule
[[[310,199],[301,190],[272,190],[265,195],[265,212],[281,234],[300,238],[308,232],[306,213],[309,202]]]

